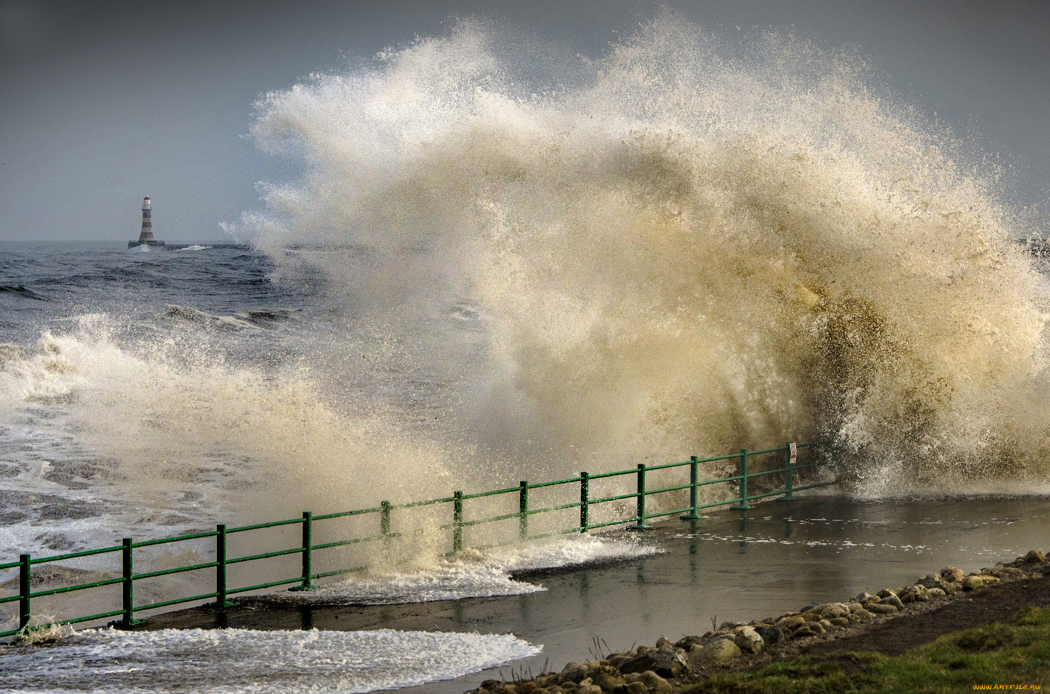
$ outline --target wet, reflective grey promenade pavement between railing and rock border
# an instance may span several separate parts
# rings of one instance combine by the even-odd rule
[[[547,590],[524,595],[382,606],[267,605],[244,598],[226,614],[203,608],[150,618],[148,629],[401,629],[506,633],[543,644],[539,656],[502,675],[560,670],[606,651],[701,634],[712,624],[748,622],[900,587],[946,565],[965,571],[1050,548],[1050,499],[967,498],[863,502],[813,498],[670,521],[644,533],[663,553],[514,574]],[[450,694],[500,678],[489,670],[404,690]]]

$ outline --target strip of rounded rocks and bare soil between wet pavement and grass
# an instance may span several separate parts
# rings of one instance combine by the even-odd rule
[[[1005,622],[1024,607],[1046,605],[1050,561],[1031,550],[969,574],[945,567],[910,586],[811,604],[749,624],[723,623],[673,644],[662,637],[653,647],[598,651],[600,660],[569,663],[561,672],[511,681],[489,679],[467,694],[659,694],[801,655],[901,655],[946,634]]]

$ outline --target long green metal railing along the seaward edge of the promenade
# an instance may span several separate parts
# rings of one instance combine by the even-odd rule
[[[823,450],[822,454],[818,451],[811,451],[816,455],[811,455],[811,462],[805,464],[798,464],[796,455],[802,453],[804,448],[819,447]],[[765,460],[774,454],[783,455],[782,466],[776,466],[772,469],[763,469],[760,471],[749,471],[749,459],[756,456],[764,456]],[[700,480],[700,466],[710,465],[712,463],[732,462],[735,460],[736,463],[736,474],[718,477],[715,479]],[[235,603],[230,603],[227,597],[236,593],[246,593],[250,591],[259,591],[267,588],[274,588],[277,586],[287,586],[290,584],[298,584],[297,586],[291,588],[291,590],[311,590],[314,581],[320,579],[326,579],[329,576],[335,576],[345,573],[352,573],[355,571],[362,571],[368,566],[356,566],[349,568],[339,568],[330,571],[315,572],[313,568],[314,552],[323,551],[326,549],[331,549],[335,547],[342,547],[346,545],[353,545],[358,543],[374,542],[378,540],[390,540],[393,538],[401,537],[402,533],[395,532],[392,530],[393,516],[394,511],[402,511],[407,509],[419,508],[423,506],[437,506],[450,504],[452,513],[450,520],[447,523],[439,524],[438,529],[450,531],[450,549],[452,553],[458,552],[463,549],[463,531],[471,526],[483,525],[487,523],[497,523],[500,521],[517,521],[518,532],[517,539],[513,542],[527,541],[527,540],[538,540],[540,538],[550,537],[554,534],[564,534],[571,532],[588,532],[589,530],[609,527],[614,525],[626,525],[628,529],[643,530],[649,527],[648,521],[669,518],[681,513],[679,517],[681,520],[695,521],[702,519],[704,517],[698,513],[698,511],[706,508],[714,508],[716,506],[729,506],[731,509],[748,510],[754,508],[749,502],[756,501],[759,499],[764,499],[769,497],[780,497],[777,501],[792,501],[795,499],[795,491],[800,491],[802,489],[810,489],[813,487],[825,486],[828,484],[834,484],[834,481],[820,481],[813,482],[810,484],[799,485],[796,475],[802,470],[816,468],[820,466],[826,466],[834,470],[834,449],[832,447],[832,442],[830,441],[818,441],[813,443],[786,443],[781,447],[777,448],[765,448],[763,450],[748,450],[741,448],[740,453],[727,454],[724,456],[715,456],[713,458],[697,459],[695,456],[690,458],[688,461],[667,463],[664,465],[645,465],[638,464],[634,469],[616,470],[612,472],[601,472],[596,475],[590,475],[588,472],[581,472],[578,477],[568,478],[565,480],[553,480],[550,482],[538,482],[530,483],[528,481],[522,481],[518,486],[506,487],[503,489],[492,489],[490,491],[479,491],[475,493],[463,493],[462,491],[454,491],[450,497],[444,497],[441,499],[430,499],[427,501],[415,501],[403,504],[392,504],[387,501],[382,501],[378,506],[372,508],[361,508],[357,510],[341,511],[337,513],[323,513],[314,514],[310,511],[304,511],[302,518],[288,519],[284,521],[273,521],[271,523],[258,523],[255,525],[246,525],[240,527],[228,528],[225,524],[219,524],[215,526],[214,531],[198,532],[194,534],[184,534],[176,535],[172,538],[161,538],[158,540],[140,540],[135,541],[131,538],[125,538],[123,543],[120,545],[111,547],[102,547],[99,549],[88,549],[79,552],[69,552],[66,554],[56,554],[52,556],[40,556],[34,558],[29,554],[21,554],[18,562],[8,562],[6,564],[0,564],[0,569],[8,570],[17,568],[19,570],[19,592],[15,595],[6,595],[0,597],[0,604],[18,602],[19,604],[19,629],[13,629],[8,631],[0,632],[0,636],[12,636],[17,634],[22,628],[25,628],[29,624],[29,615],[32,609],[32,603],[34,600],[59,595],[62,593],[70,593],[75,591],[88,590],[92,588],[101,588],[104,586],[117,586],[121,587],[121,608],[118,610],[110,610],[107,612],[100,612],[97,614],[87,614],[83,616],[72,617],[68,619],[62,619],[58,624],[77,624],[83,622],[94,622],[99,619],[104,619],[107,617],[120,617],[119,619],[111,622],[110,624],[116,627],[131,627],[136,624],[141,624],[144,619],[135,618],[135,613],[143,612],[145,610],[156,610],[160,608],[170,607],[173,605],[181,605],[185,603],[198,603],[201,601],[207,601],[214,598],[211,603],[212,606],[223,608],[235,605]],[[649,488],[647,486],[647,476],[658,471],[668,470],[672,468],[687,468],[689,469],[689,482],[674,484],[667,487]],[[629,493],[618,493],[606,497],[593,497],[592,496],[592,485],[597,483],[600,480],[623,477],[623,476],[634,476],[636,481],[636,490]],[[749,481],[755,480],[756,478],[769,478],[770,476],[782,476],[778,482],[782,486],[773,489],[760,491],[758,493],[749,492]],[[777,479],[777,478],[773,478]],[[724,484],[729,485],[731,488],[735,486],[735,491],[737,497],[734,499],[716,501],[711,503],[698,503],[698,490],[700,487],[714,485],[714,484]],[[579,501],[572,501],[568,503],[559,503],[549,506],[544,506],[540,508],[533,508],[529,504],[529,492],[532,490],[545,488],[545,487],[559,487],[564,485],[578,485],[580,497]],[[682,508],[675,508],[671,510],[659,510],[655,512],[649,512],[646,507],[646,502],[650,497],[656,495],[665,495],[678,490],[689,490],[689,505]],[[509,496],[511,499],[517,497],[517,509],[507,513],[501,513],[498,516],[481,519],[467,520],[464,514],[464,502],[468,502],[475,499],[481,499],[484,497],[499,497],[499,496]],[[597,523],[591,522],[591,510],[592,507],[598,504],[609,504],[616,501],[634,500],[633,513],[621,518],[615,518],[613,520],[605,520]],[[628,502],[628,508],[630,504]],[[531,533],[529,530],[529,519],[541,513],[551,513],[555,511],[565,511],[567,509],[579,509],[579,523],[575,523],[575,518],[573,518],[573,525],[570,527],[561,527],[554,529],[548,529],[546,532]],[[378,514],[379,517],[379,533],[371,534],[362,538],[350,538],[341,539],[333,542],[315,543],[313,540],[314,534],[314,524],[332,521],[334,519],[343,519],[355,516],[368,516],[368,514]],[[276,528],[280,526],[291,526],[299,525],[301,527],[301,543],[294,547],[289,547],[286,549],[278,549],[270,552],[262,552],[256,554],[249,554],[245,556],[228,556],[227,555],[227,539],[229,535],[242,532],[258,531],[267,528]],[[155,547],[159,545],[169,545],[171,543],[182,543],[193,540],[214,538],[214,560],[211,562],[205,562],[201,564],[191,564],[186,566],[177,566],[174,568],[165,568],[156,571],[146,571],[143,573],[136,573],[134,571],[134,552],[136,549],[143,549],[146,547]],[[505,544],[505,543],[504,543]],[[479,547],[480,548],[480,547]],[[105,579],[102,581],[93,581],[90,583],[83,583],[70,586],[63,586],[60,588],[48,588],[45,590],[33,590],[33,567],[39,566],[41,564],[51,564],[56,562],[67,562],[70,560],[76,560],[85,556],[92,556],[97,554],[108,554],[113,552],[120,552],[122,559],[122,571],[120,576]],[[227,582],[227,569],[231,565],[243,564],[246,562],[260,562],[264,560],[269,560],[273,558],[289,555],[289,554],[299,554],[301,558],[301,571],[297,571],[295,575],[281,579],[278,581],[270,581],[266,583],[259,583],[254,585],[246,586],[231,586]],[[134,583],[136,581],[143,581],[146,579],[154,579],[159,576],[171,575],[175,573],[184,573],[187,571],[201,571],[206,569],[214,569],[215,577],[215,590],[212,592],[196,594],[196,595],[186,595],[184,597],[177,597],[174,600],[158,601],[151,603],[144,603],[142,605],[135,605],[134,601]]]

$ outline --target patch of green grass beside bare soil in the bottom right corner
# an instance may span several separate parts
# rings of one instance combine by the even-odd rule
[[[1029,690],[998,691],[1050,692],[1050,607],[1026,607],[1012,624],[948,634],[896,657],[845,652],[799,656],[757,672],[717,675],[679,694],[940,694],[980,691],[974,685],[1028,685]]]

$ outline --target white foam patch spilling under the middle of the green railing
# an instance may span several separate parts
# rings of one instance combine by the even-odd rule
[[[384,605],[425,603],[463,597],[521,595],[546,590],[516,581],[514,571],[549,569],[656,554],[659,547],[638,542],[604,540],[589,534],[501,547],[467,550],[417,571],[373,569],[366,575],[323,586],[311,592],[286,592],[271,600],[294,603]]]

